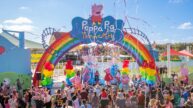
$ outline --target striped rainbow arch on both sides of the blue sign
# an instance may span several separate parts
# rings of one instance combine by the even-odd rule
[[[83,44],[83,41],[77,38],[73,38],[70,32],[60,32],[59,34],[61,35],[61,37],[46,49],[37,65],[33,77],[34,86],[39,85],[39,81],[37,80],[37,73],[42,73],[44,71],[44,64],[46,62],[49,61],[55,66],[67,51],[80,44]],[[114,44],[122,46],[136,59],[139,65],[142,65],[144,60],[147,62],[154,62],[154,58],[147,50],[147,48],[137,38],[127,32],[124,33],[124,37],[121,41]]]

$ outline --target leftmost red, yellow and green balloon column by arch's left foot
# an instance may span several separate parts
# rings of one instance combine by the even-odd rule
[[[53,80],[52,80],[52,75],[53,75],[53,70],[54,70],[54,65],[51,62],[46,62],[44,65],[44,70],[43,70],[43,77],[41,81],[42,86],[46,87],[52,87],[53,85]]]

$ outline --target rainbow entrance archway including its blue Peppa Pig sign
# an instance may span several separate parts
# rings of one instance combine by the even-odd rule
[[[101,19],[99,17],[100,20],[96,20],[97,17],[95,21],[93,21],[92,17],[89,19],[75,17],[72,20],[71,32],[54,33],[60,35],[60,38],[52,43],[44,52],[35,70],[33,85],[39,85],[37,73],[44,72],[47,62],[55,66],[70,49],[80,44],[88,44],[93,41],[96,43],[109,42],[123,47],[136,59],[140,66],[144,64],[144,61],[155,64],[154,58],[144,44],[132,34],[123,31],[124,23],[122,20],[116,20],[111,16],[107,16]],[[154,74],[155,72],[151,75]]]

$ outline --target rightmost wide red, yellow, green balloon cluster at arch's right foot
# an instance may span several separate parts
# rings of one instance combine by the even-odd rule
[[[155,62],[144,61],[139,68],[142,79],[149,85],[154,85],[156,82],[156,66]]]

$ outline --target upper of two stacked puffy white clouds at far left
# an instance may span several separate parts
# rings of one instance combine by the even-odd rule
[[[9,24],[31,24],[32,21],[26,17],[18,17],[16,19],[5,20],[3,23]]]

